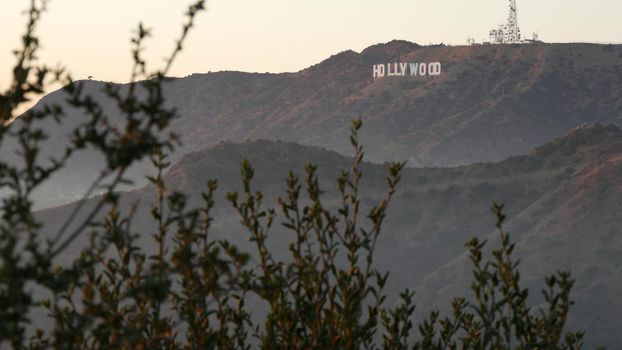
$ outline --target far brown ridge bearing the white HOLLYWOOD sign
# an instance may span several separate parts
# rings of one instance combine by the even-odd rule
[[[441,76],[372,79],[372,65],[442,63]],[[114,114],[100,93],[86,91]],[[373,162],[407,160],[414,166],[499,161],[528,152],[583,122],[622,122],[622,45],[525,44],[419,46],[392,41],[360,53],[345,51],[296,73],[217,72],[172,79],[165,96],[179,111],[173,130],[183,146],[174,155],[225,141],[270,139],[350,154],[349,121],[361,117],[361,138]],[[61,92],[42,102],[63,100]],[[81,115],[69,111],[49,123],[46,147],[59,154]],[[114,118],[113,118],[114,119]],[[10,147],[0,150],[3,157]],[[58,176],[47,206],[80,194],[98,159],[79,157]],[[135,175],[144,173],[137,167]],[[139,181],[140,182],[140,181]]]

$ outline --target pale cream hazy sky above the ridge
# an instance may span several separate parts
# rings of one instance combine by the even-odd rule
[[[0,4],[0,88],[6,87],[29,1]],[[182,23],[186,0],[52,0],[40,26],[46,63],[74,78],[127,81],[129,36],[154,29],[147,57],[160,63]],[[208,0],[173,75],[242,70],[297,71],[337,52],[392,39],[462,45],[505,22],[507,0]],[[622,42],[621,0],[518,0],[524,34],[547,42]]]

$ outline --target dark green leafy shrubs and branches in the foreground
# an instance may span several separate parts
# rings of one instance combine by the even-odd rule
[[[17,140],[23,163],[0,162],[0,346],[14,349],[579,349],[581,333],[566,333],[573,281],[567,273],[546,280],[546,307],[527,306],[520,287],[514,244],[503,231],[502,206],[494,205],[501,246],[484,258],[485,242],[467,244],[473,263],[473,297],[453,300],[453,313],[431,313],[413,323],[414,295],[401,294],[395,307],[383,293],[389,274],[374,267],[374,249],[404,163],[388,169],[385,198],[364,216],[359,209],[363,176],[362,127],[354,120],[350,141],[353,165],[337,179],[341,205],[329,209],[317,168],[306,177],[292,172],[277,208],[267,208],[252,188],[254,170],[241,167],[241,193],[227,199],[255,244],[242,252],[226,240],[210,237],[216,181],[208,181],[203,206],[190,208],[181,193],[170,193],[162,174],[166,154],[176,144],[166,130],[176,117],[164,104],[162,83],[204,1],[192,4],[180,39],[165,67],[148,70],[142,57],[149,30],[142,24],[132,38],[134,67],[127,91],[108,85],[123,125],[113,125],[98,102],[72,82],[62,68],[37,65],[36,26],[46,1],[33,0],[22,48],[16,51],[13,83],[0,95],[0,142]],[[42,166],[46,139],[39,122],[63,121],[59,106],[40,106],[14,120],[13,112],[44,92],[46,84],[66,85],[67,101],[84,112],[64,154]],[[53,237],[43,237],[30,196],[76,153],[86,148],[105,156],[101,175]],[[132,164],[151,159],[157,170],[149,181],[157,191],[151,215],[157,247],[146,251],[133,232],[133,210],[119,208],[117,186]],[[97,204],[85,200],[105,189]],[[104,219],[99,220],[98,217]],[[289,259],[279,260],[267,242],[277,220],[291,231]],[[363,222],[362,222],[363,221]],[[72,229],[70,229],[72,228]],[[72,264],[55,259],[78,236],[90,234]],[[45,293],[34,293],[34,289]],[[35,294],[37,296],[35,296]],[[43,297],[41,295],[44,295]],[[249,300],[267,305],[252,315]],[[34,329],[30,312],[45,308],[50,329]]]

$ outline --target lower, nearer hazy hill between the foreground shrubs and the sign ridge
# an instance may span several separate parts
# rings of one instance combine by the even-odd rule
[[[276,206],[276,197],[284,194],[287,171],[304,178],[307,162],[318,165],[325,203],[337,205],[335,179],[351,164],[351,159],[333,151],[268,140],[224,143],[185,155],[166,174],[169,189],[187,193],[190,203],[198,205],[207,180],[218,179],[214,235],[247,248],[248,236],[224,200],[226,192],[240,190],[239,166],[245,158],[255,166],[253,189],[264,192],[269,206]],[[387,166],[366,163],[363,172],[362,203],[369,208],[386,187]],[[588,348],[621,348],[620,178],[622,131],[601,124],[582,125],[527,155],[498,163],[406,169],[378,245],[377,261],[381,269],[391,271],[390,296],[414,288],[418,314],[423,315],[432,307],[449,306],[451,296],[467,295],[471,270],[464,243],[478,236],[495,244],[489,207],[493,201],[506,203],[507,229],[518,243],[522,277],[532,288],[532,302],[539,303],[544,276],[558,269],[571,271],[577,278],[571,327],[588,331]],[[133,227],[149,247],[153,226],[146,204],[153,201],[154,190],[148,186],[122,198],[123,206],[142,203]],[[48,234],[74,205],[38,214]],[[87,238],[82,239],[65,259],[76,254]],[[287,254],[290,239],[282,228],[272,231],[270,242],[277,256]]]

